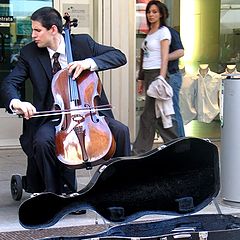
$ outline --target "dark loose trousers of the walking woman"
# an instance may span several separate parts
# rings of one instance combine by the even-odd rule
[[[145,92],[152,81],[159,76],[160,69],[144,70],[144,87]],[[152,149],[156,131],[160,134],[163,141],[169,142],[178,137],[177,122],[172,116],[173,126],[164,128],[162,119],[156,118],[155,98],[146,94],[145,105],[140,116],[139,131],[135,142],[133,143],[133,154],[142,154]]]

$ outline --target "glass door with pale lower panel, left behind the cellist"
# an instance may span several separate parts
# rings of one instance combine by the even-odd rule
[[[1,0],[0,1],[0,84],[14,68],[19,51],[31,39],[31,14],[38,8],[52,6],[52,0]],[[28,81],[19,95],[28,98],[31,92]],[[0,98],[1,99],[1,98]],[[0,100],[0,147],[18,147],[22,121],[5,112]]]

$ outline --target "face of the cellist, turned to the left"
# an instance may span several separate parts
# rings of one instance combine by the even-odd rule
[[[52,28],[47,30],[38,21],[32,21],[32,38],[39,48],[51,47],[53,41]]]

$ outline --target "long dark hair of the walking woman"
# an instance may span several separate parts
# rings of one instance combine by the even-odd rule
[[[158,8],[159,13],[162,15],[161,18],[160,18],[160,26],[159,26],[159,28],[162,27],[162,26],[167,26],[167,23],[166,23],[166,19],[168,18],[167,6],[164,3],[162,3],[162,2],[160,2],[158,0],[152,0],[152,1],[148,2],[147,7],[146,7],[146,11],[145,11],[148,28],[150,29],[151,24],[148,21],[147,13],[149,12],[149,9],[150,9],[150,7],[152,5],[156,5],[157,8]]]

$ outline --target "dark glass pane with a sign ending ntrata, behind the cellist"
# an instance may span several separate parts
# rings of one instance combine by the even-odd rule
[[[0,83],[18,61],[19,50],[31,39],[31,14],[40,7],[52,6],[52,0],[3,0],[0,3]],[[27,95],[25,86],[19,93]],[[0,102],[0,107],[3,104]]]

